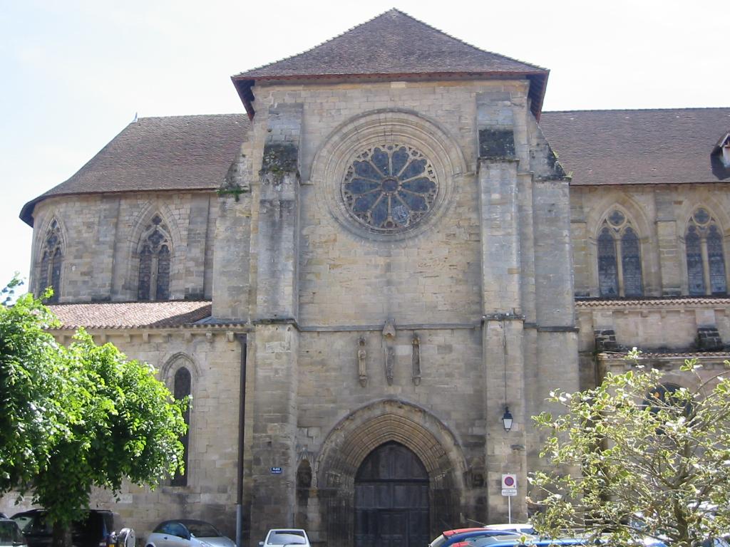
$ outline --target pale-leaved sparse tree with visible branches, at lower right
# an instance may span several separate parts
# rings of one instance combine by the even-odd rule
[[[730,530],[730,380],[702,379],[688,360],[693,389],[665,389],[664,373],[638,365],[607,374],[595,389],[554,393],[564,414],[534,417],[554,435],[542,452],[556,466],[531,478],[550,535],[585,528],[618,544],[653,537],[699,546]],[[726,366],[730,363],[726,362]],[[561,473],[560,469],[580,470]]]

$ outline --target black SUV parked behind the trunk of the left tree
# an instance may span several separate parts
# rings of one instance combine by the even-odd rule
[[[12,516],[23,530],[28,547],[51,547],[53,527],[46,521],[46,511],[31,509]],[[119,515],[112,511],[90,509],[86,518],[74,521],[71,526],[71,540],[74,547],[109,547],[117,542]]]

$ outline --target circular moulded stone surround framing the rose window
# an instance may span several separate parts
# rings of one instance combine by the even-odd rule
[[[347,169],[365,150],[389,144],[406,144],[422,153],[434,168],[439,187],[431,211],[415,226],[384,232],[358,221],[342,201]],[[447,131],[415,112],[377,110],[339,125],[326,138],[312,162],[310,180],[319,203],[325,203],[335,220],[351,233],[376,241],[399,241],[431,228],[453,202],[457,179],[466,173],[461,148]]]

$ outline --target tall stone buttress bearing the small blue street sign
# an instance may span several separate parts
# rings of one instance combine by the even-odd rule
[[[296,519],[301,104],[269,109],[258,195],[252,538]]]

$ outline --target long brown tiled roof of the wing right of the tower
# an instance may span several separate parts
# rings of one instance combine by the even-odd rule
[[[711,156],[730,108],[543,112],[540,126],[572,185],[730,182]]]

